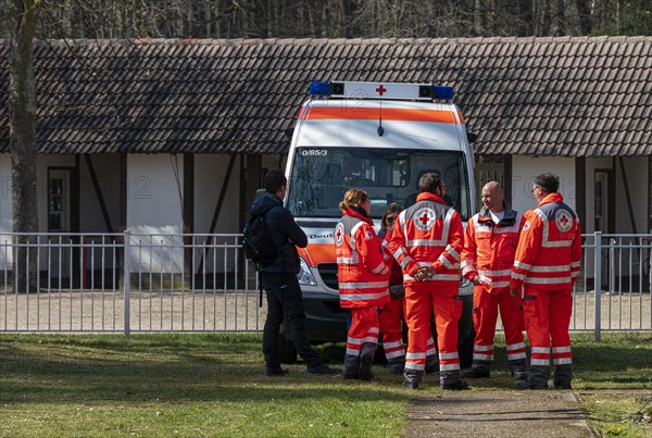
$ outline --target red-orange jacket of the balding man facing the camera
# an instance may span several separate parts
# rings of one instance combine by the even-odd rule
[[[510,277],[518,245],[518,234],[525,222],[523,215],[503,203],[504,215],[496,224],[486,207],[466,224],[462,275],[473,280],[479,276],[489,293],[510,289]]]

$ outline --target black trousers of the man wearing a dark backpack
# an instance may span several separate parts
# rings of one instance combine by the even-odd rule
[[[287,321],[297,352],[309,368],[324,364],[322,358],[311,347],[305,333],[303,297],[294,274],[263,273],[263,288],[267,295],[267,320],[263,329],[263,354],[265,366],[276,370],[280,366],[278,355],[279,328]]]

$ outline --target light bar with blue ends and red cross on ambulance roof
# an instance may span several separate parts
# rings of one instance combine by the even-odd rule
[[[333,82],[311,83],[312,97],[452,101],[453,87],[430,84]]]

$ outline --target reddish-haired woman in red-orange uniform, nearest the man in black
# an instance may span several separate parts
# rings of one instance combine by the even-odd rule
[[[350,189],[340,202],[342,218],[335,227],[335,253],[340,306],[351,311],[344,378],[373,378],[378,345],[378,308],[389,301],[389,266],[369,217],[364,190]]]

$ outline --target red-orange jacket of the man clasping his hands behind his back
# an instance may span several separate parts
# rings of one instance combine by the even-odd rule
[[[437,272],[429,280],[457,285],[464,228],[460,214],[443,199],[422,192],[416,203],[399,214],[389,242],[393,258],[403,268],[403,281],[421,283],[413,275],[421,266]]]

